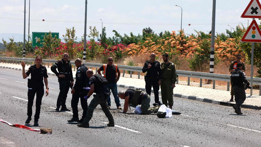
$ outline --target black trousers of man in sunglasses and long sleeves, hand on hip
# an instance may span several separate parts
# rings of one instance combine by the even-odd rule
[[[59,87],[60,87],[60,92],[59,92],[59,96],[57,98],[57,107],[66,107],[65,103],[66,103],[66,98],[67,98],[67,94],[69,91],[71,85],[71,81],[70,80],[60,80],[59,81]]]

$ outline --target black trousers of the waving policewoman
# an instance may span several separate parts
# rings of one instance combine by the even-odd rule
[[[36,93],[36,109],[35,109],[35,120],[38,120],[40,117],[40,110],[42,104],[42,98],[44,96],[44,85],[43,86],[34,86],[33,88],[28,88],[28,104],[27,104],[27,115],[32,116],[32,105],[34,103]]]

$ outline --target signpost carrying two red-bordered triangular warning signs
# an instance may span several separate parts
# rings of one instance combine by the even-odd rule
[[[251,0],[244,10],[241,18],[253,18],[253,21],[247,28],[246,33],[240,40],[241,42],[252,42],[251,43],[251,81],[250,86],[253,87],[253,66],[254,66],[254,42],[261,42],[261,31],[255,18],[261,18],[261,4],[259,0]],[[253,88],[250,89],[250,95],[253,94]]]

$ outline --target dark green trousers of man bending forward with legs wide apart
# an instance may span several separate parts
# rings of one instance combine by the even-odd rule
[[[92,101],[90,102],[87,110],[86,117],[84,118],[83,123],[89,123],[90,119],[93,117],[93,111],[97,107],[97,105],[101,105],[102,111],[105,113],[106,117],[108,118],[109,122],[114,122],[113,116],[110,113],[110,110],[107,107],[107,101],[104,97],[104,94],[96,94]]]

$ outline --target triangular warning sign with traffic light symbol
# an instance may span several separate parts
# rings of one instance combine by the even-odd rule
[[[251,22],[241,42],[261,42],[261,31],[255,20]]]

